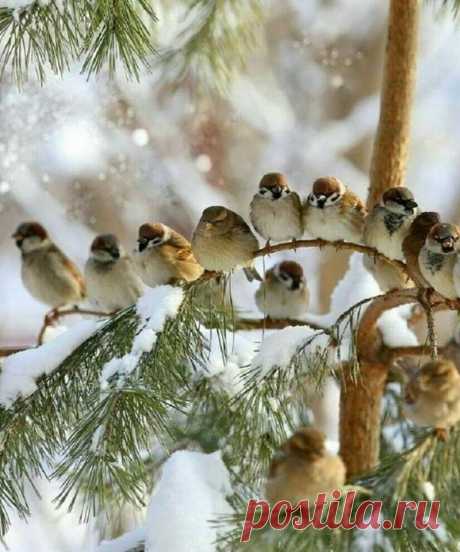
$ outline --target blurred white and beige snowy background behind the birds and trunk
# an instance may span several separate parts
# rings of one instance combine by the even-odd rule
[[[408,184],[422,208],[459,222],[460,32],[434,4],[423,10]],[[20,281],[10,235],[24,220],[39,220],[82,266],[96,233],[114,232],[132,249],[147,220],[190,237],[210,204],[247,219],[269,171],[286,173],[303,195],[318,176],[336,175],[365,198],[386,8],[381,0],[272,2],[262,44],[227,97],[197,95],[192,79],[173,90],[156,73],[140,83],[121,74],[87,82],[78,68],[43,87],[1,83],[1,345],[34,343],[46,310]],[[162,14],[167,40],[171,19],[163,32]],[[296,259],[312,313],[327,312],[348,255],[304,250]],[[237,302],[254,311],[254,289],[239,278],[235,286]],[[29,525],[17,521],[6,543],[14,552],[90,552],[94,534],[77,521],[35,501]]]

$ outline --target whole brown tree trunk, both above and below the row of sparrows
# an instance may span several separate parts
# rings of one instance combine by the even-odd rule
[[[418,0],[391,0],[380,118],[370,168],[367,204],[372,208],[391,186],[404,185],[415,90]],[[348,478],[372,470],[380,452],[381,406],[389,363],[376,322],[380,302],[370,305],[358,331],[358,381],[344,367],[340,398],[340,454]]]

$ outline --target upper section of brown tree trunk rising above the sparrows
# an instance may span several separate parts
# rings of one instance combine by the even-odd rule
[[[409,155],[415,91],[419,0],[391,0],[380,118],[374,141],[367,200],[372,208],[382,193],[403,186]]]

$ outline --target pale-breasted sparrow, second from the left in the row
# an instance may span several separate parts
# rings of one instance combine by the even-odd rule
[[[85,280],[90,301],[107,312],[129,307],[144,291],[133,260],[113,234],[94,239],[85,264]]]

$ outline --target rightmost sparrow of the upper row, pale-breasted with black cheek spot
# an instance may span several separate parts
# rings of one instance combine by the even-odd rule
[[[446,299],[456,299],[454,267],[460,231],[454,224],[435,224],[420,250],[418,264],[423,278]]]

